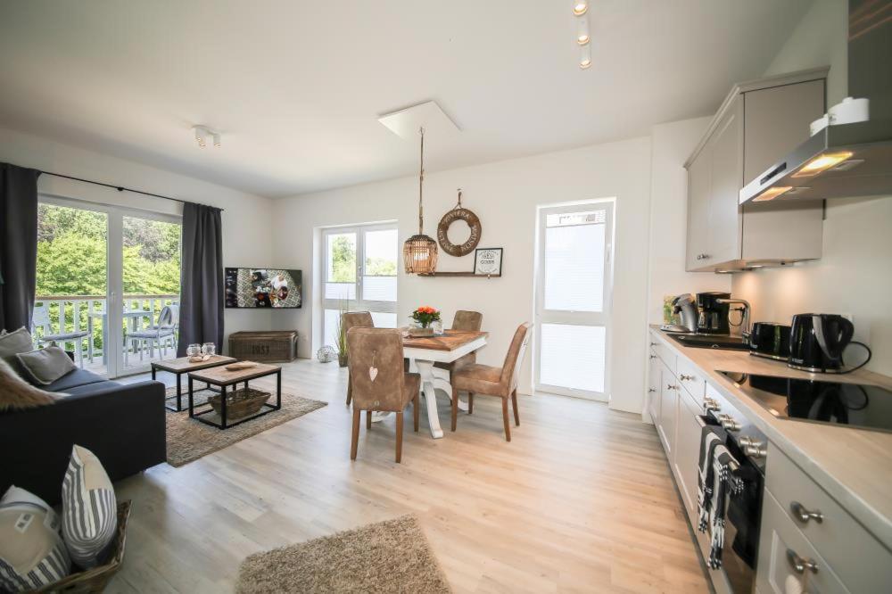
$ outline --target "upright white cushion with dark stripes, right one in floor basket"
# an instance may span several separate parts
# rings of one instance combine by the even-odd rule
[[[62,483],[62,535],[72,561],[85,569],[105,561],[118,528],[117,507],[99,458],[74,446]]]

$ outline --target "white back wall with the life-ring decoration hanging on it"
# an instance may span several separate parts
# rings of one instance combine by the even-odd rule
[[[434,139],[431,139],[434,142]],[[616,198],[616,245],[612,352],[608,361],[611,408],[640,411],[644,377],[640,357],[647,321],[648,208],[650,194],[648,138],[599,144],[572,151],[548,153],[512,161],[452,169],[425,176],[425,232],[435,235],[442,215],[463,189],[463,203],[483,224],[481,247],[503,247],[501,278],[422,278],[400,272],[399,319],[408,322],[418,305],[442,309],[449,323],[455,309],[483,313],[490,343],[481,351],[483,363],[500,365],[516,326],[533,319],[533,238],[536,206],[597,198]],[[318,227],[398,220],[401,241],[417,233],[417,178],[352,186],[306,194],[275,205],[276,260],[274,265],[310,271],[313,237]],[[318,256],[318,254],[317,254]],[[470,270],[472,256],[455,259],[441,252],[441,270]],[[301,356],[309,357],[314,331],[312,314],[318,303],[318,284],[305,274],[307,306],[281,312],[277,327],[296,327],[301,333]],[[290,319],[289,319],[290,318]],[[315,329],[314,338],[319,329]],[[573,348],[573,345],[567,345]],[[532,353],[531,351],[528,351]],[[531,355],[524,362],[521,392],[531,391]]]

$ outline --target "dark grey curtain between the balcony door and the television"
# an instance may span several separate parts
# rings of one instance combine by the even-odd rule
[[[213,342],[223,352],[223,231],[220,210],[186,202],[180,272],[177,356],[193,343]]]

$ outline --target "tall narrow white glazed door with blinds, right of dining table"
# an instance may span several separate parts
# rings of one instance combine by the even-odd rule
[[[534,384],[607,400],[613,202],[539,209]]]

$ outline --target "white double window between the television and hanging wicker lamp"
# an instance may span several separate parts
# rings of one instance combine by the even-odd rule
[[[397,326],[399,232],[396,223],[322,232],[323,344],[337,345],[340,310],[370,311],[377,327]]]

